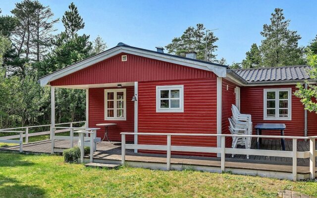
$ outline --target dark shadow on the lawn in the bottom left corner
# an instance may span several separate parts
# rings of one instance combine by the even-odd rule
[[[44,198],[45,190],[38,186],[24,185],[16,179],[0,175],[1,198]]]

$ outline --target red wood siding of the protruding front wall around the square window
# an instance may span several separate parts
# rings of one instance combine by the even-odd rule
[[[156,86],[161,85],[184,85],[183,113],[156,112]],[[139,82],[138,89],[139,132],[216,133],[215,76],[210,79]],[[139,136],[138,139],[139,144],[166,145],[166,137]],[[216,147],[216,144],[215,137],[172,137],[172,145]],[[177,152],[177,154],[185,153]],[[214,154],[205,154],[208,155],[214,156]]]

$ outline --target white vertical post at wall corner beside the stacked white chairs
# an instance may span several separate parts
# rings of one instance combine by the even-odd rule
[[[217,134],[221,134],[221,108],[222,108],[222,78],[217,77]],[[217,136],[217,147],[221,146],[221,137]],[[217,153],[217,157],[220,157],[220,153]]]

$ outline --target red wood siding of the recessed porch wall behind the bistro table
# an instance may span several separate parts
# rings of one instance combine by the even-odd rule
[[[131,101],[134,95],[134,87],[122,87],[126,89],[127,119],[123,120],[105,120],[105,89],[116,88],[91,88],[89,89],[89,127],[96,128],[99,123],[116,123],[116,126],[108,127],[108,137],[111,141],[121,141],[120,132],[134,132],[134,102]],[[98,127],[97,137],[104,138],[105,127]],[[126,137],[127,141],[134,141],[132,136]]]

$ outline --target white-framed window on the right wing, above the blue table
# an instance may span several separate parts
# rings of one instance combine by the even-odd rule
[[[292,89],[264,89],[264,120],[291,120]]]

